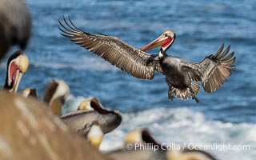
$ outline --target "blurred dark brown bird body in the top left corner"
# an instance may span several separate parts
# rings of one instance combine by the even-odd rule
[[[26,49],[30,38],[31,18],[22,0],[0,1],[0,59],[10,46]]]

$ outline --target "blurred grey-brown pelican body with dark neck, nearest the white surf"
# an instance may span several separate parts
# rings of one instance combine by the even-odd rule
[[[122,122],[121,114],[118,111],[103,109],[98,105],[96,98],[91,100],[90,106],[94,110],[76,110],[70,114],[62,115],[62,121],[85,137],[90,130],[90,125],[94,121],[98,121],[104,134],[114,130]]]

